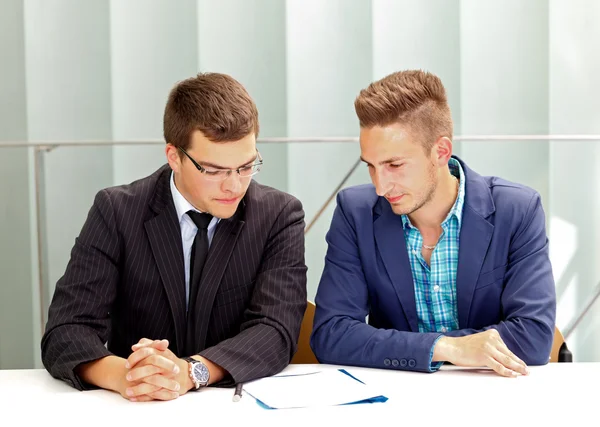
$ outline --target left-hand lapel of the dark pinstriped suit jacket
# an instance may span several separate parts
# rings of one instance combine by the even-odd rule
[[[175,324],[177,349],[185,340],[185,276],[181,228],[170,189],[171,169],[159,178],[151,209],[157,214],[146,221],[145,228],[150,247],[160,273]]]

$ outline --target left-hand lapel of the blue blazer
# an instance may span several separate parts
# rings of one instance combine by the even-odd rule
[[[402,229],[402,219],[396,215],[389,203],[379,199],[375,205],[379,217],[373,223],[375,241],[379,255],[392,281],[392,286],[400,300],[400,305],[413,332],[419,331],[415,287],[412,270],[406,250],[406,240]]]

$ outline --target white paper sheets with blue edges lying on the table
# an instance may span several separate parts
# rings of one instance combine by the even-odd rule
[[[343,369],[262,378],[244,384],[244,392],[267,409],[306,408],[385,402],[381,392]]]

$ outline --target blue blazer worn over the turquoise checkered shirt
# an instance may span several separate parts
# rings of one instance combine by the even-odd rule
[[[311,347],[321,363],[429,372],[440,335],[489,328],[525,363],[548,362],[556,292],[540,196],[457,160],[466,180],[459,329],[419,333],[402,220],[372,185],[350,187],[337,196],[315,299]]]

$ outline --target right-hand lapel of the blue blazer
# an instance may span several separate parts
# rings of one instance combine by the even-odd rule
[[[475,285],[494,232],[494,226],[486,218],[495,211],[495,206],[485,180],[458,160],[466,180],[456,273],[458,325],[463,329],[469,322]]]

